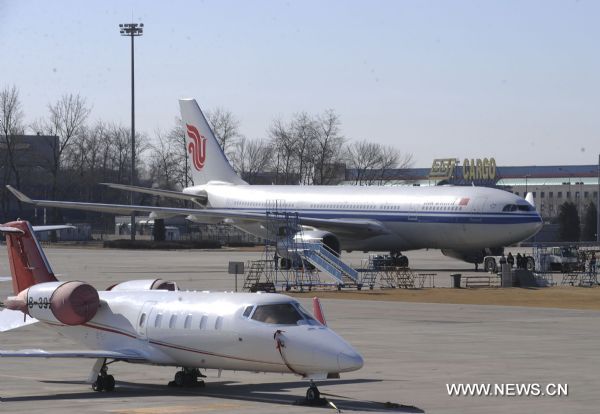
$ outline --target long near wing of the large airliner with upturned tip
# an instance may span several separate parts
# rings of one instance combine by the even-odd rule
[[[130,204],[103,204],[103,203],[83,203],[77,201],[50,201],[50,200],[32,200],[25,194],[7,185],[8,190],[24,203],[33,204],[39,207],[54,207],[68,208],[74,210],[97,211],[101,213],[123,214],[128,215],[136,213],[154,213],[157,216],[194,216],[195,218],[206,219],[230,219],[235,221],[253,221],[263,222],[266,217],[263,213],[252,211],[231,211],[227,209],[216,208],[180,208],[180,207],[156,207],[156,206],[140,206]],[[283,216],[282,216],[283,219]],[[198,220],[199,221],[199,220]],[[383,224],[377,220],[355,219],[355,218],[335,218],[335,219],[320,219],[314,217],[306,217],[299,215],[298,221],[305,226],[319,228],[339,234],[353,234],[364,237],[373,237],[381,234],[388,234],[389,231]]]

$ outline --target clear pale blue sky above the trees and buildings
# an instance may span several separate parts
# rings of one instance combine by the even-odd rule
[[[133,16],[133,17],[132,17]],[[0,0],[0,88],[26,120],[65,93],[92,119],[168,129],[177,98],[231,110],[250,138],[276,117],[334,109],[349,139],[415,166],[593,164],[600,152],[599,1]]]

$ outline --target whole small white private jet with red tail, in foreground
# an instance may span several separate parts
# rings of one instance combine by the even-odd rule
[[[107,360],[183,367],[174,385],[197,382],[199,369],[293,373],[339,378],[363,365],[361,355],[294,299],[272,293],[183,292],[173,282],[132,280],[105,291],[58,281],[26,221],[6,234],[15,296],[0,311],[0,331],[42,322],[86,351],[0,351],[0,357],[92,358],[89,382],[114,389]],[[32,319],[34,318],[34,319]],[[311,402],[319,400],[311,381]]]

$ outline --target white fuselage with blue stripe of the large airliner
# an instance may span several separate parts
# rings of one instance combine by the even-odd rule
[[[534,235],[542,227],[541,217],[527,201],[486,187],[208,184],[186,188],[184,192],[205,192],[208,208],[262,214],[277,208],[298,212],[301,217],[372,220],[382,223],[389,231],[374,237],[340,234],[343,250],[503,247]],[[518,205],[521,209],[503,211],[509,205]],[[234,220],[233,224],[252,234],[266,236],[260,224],[242,220]]]

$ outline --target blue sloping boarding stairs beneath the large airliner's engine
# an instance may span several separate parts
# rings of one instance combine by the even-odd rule
[[[298,243],[298,248],[303,259],[331,276],[338,286],[360,284],[358,271],[344,263],[335,252],[323,243]]]

